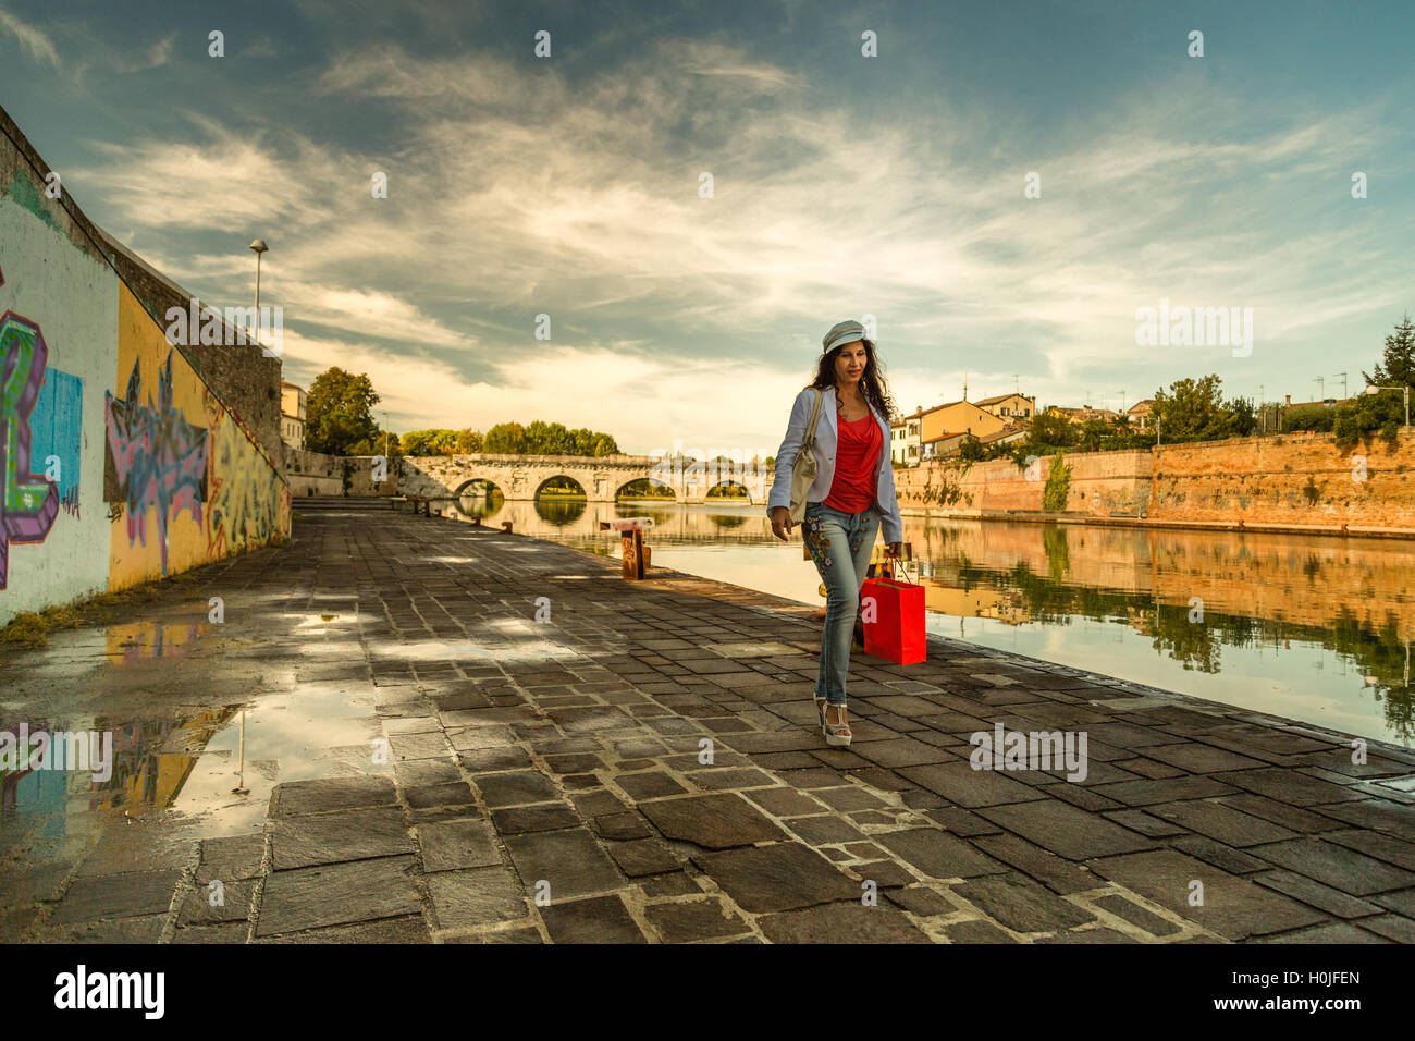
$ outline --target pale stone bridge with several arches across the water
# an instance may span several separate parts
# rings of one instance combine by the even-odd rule
[[[692,462],[658,456],[406,456],[400,460],[398,490],[423,499],[458,499],[467,486],[490,480],[508,500],[535,499],[546,482],[570,477],[591,503],[613,503],[635,480],[652,479],[672,489],[679,503],[706,501],[719,486],[736,484],[753,504],[766,506],[771,472],[750,462]]]

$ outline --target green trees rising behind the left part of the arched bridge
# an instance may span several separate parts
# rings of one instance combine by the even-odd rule
[[[481,431],[430,428],[399,436],[374,419],[381,401],[366,372],[327,368],[310,384],[304,399],[304,446],[331,456],[446,456],[468,452],[533,456],[611,456],[618,445],[608,433],[563,423],[497,423]]]

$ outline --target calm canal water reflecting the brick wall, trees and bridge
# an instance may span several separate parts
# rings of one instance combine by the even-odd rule
[[[822,605],[799,530],[761,506],[467,497],[485,524]],[[931,633],[1411,746],[1415,547],[1182,528],[904,517]],[[911,574],[914,569],[911,568]]]

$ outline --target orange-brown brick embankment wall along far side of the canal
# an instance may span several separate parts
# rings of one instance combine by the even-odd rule
[[[1196,524],[1398,528],[1415,534],[1415,431],[1394,448],[1339,450],[1336,435],[1234,438],[1153,452],[1075,452],[1065,513]],[[1041,510],[1051,459],[1030,470],[995,459],[894,470],[901,506],[954,514]]]

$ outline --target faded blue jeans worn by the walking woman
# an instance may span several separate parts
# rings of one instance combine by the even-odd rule
[[[855,615],[879,527],[880,513],[874,506],[860,513],[842,513],[825,503],[805,504],[801,537],[825,582],[825,625],[821,627],[821,671],[815,680],[815,695],[831,704],[845,704]]]

